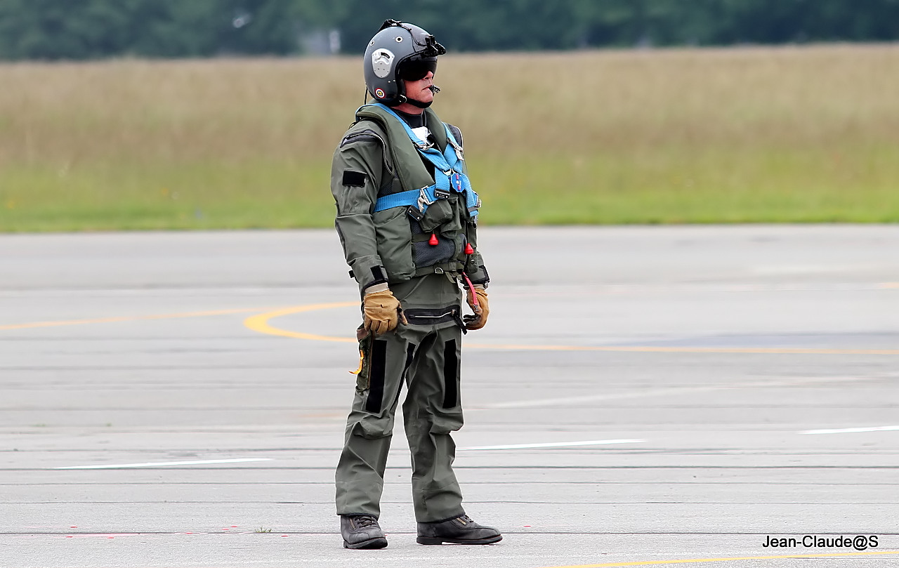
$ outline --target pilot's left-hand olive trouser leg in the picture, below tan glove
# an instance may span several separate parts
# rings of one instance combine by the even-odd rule
[[[335,472],[338,515],[380,515],[384,469],[408,342],[398,333],[379,335],[371,350],[369,386],[358,390],[347,419]]]

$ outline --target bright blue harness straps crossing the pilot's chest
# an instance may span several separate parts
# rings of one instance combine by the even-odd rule
[[[413,129],[406,124],[405,120],[401,119],[387,105],[376,102],[370,106],[377,106],[387,111],[396,120],[399,120],[418,153],[434,166],[434,183],[432,185],[421,190],[400,191],[399,193],[379,197],[375,202],[374,212],[414,205],[419,211],[424,213],[434,201],[446,199],[451,195],[451,191],[455,191],[457,193],[465,193],[468,215],[476,217],[477,208],[480,207],[477,193],[471,188],[468,176],[462,171],[461,146],[458,145],[456,138],[453,137],[446,123],[444,122],[442,125],[447,136],[447,146],[441,152],[439,147],[428,147],[430,145],[426,141],[415,136]]]

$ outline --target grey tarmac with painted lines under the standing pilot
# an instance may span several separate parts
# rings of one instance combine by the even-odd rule
[[[456,471],[503,541],[415,544],[398,420],[352,551],[334,231],[0,235],[0,566],[899,565],[899,226],[479,240]]]

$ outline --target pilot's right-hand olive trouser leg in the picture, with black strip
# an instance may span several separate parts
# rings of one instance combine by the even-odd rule
[[[456,326],[428,334],[414,353],[403,404],[405,435],[412,452],[415,519],[457,517],[462,492],[452,462],[456,444],[449,432],[462,427],[459,399],[461,333]]]

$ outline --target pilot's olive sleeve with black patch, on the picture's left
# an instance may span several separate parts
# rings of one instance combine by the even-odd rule
[[[331,165],[331,192],[337,206],[334,226],[361,293],[387,282],[371,218],[384,175],[382,139],[377,132],[350,129],[334,151]]]

